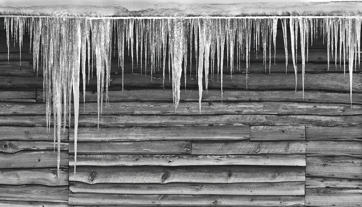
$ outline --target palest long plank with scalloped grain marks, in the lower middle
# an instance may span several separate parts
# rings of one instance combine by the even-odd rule
[[[74,155],[69,164],[74,165]],[[139,166],[139,165],[290,165],[305,166],[304,154],[287,155],[77,155],[77,166]]]

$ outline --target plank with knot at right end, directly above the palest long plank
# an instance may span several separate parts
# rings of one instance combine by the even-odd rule
[[[70,142],[69,152],[74,153]],[[78,154],[191,154],[191,141],[78,142]]]

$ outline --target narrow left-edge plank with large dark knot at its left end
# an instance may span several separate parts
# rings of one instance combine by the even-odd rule
[[[58,143],[51,141],[0,141],[0,152],[14,153],[21,150],[54,150]],[[60,142],[60,150],[68,150],[68,142]]]

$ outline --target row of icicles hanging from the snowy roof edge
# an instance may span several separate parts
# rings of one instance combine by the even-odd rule
[[[271,64],[271,44],[275,44],[277,22],[281,21],[284,35],[285,61],[288,64],[287,30],[290,30],[292,63],[297,81],[297,40],[300,37],[302,54],[302,81],[304,91],[304,69],[308,59],[308,40],[316,39],[319,29],[327,42],[329,54],[337,62],[337,44],[339,41],[339,59],[348,62],[351,102],[352,102],[352,70],[353,59],[356,67],[359,65],[361,17],[111,17],[111,18],[70,18],[70,17],[24,17],[5,16],[7,44],[9,48],[10,34],[14,42],[22,46],[24,32],[30,34],[33,47],[34,70],[43,69],[43,87],[46,102],[47,126],[54,125],[54,147],[58,143],[58,172],[60,158],[60,134],[62,126],[70,126],[71,94],[74,100],[74,140],[75,162],[77,157],[77,126],[79,115],[79,86],[80,72],[83,77],[83,96],[86,86],[86,65],[93,70],[95,65],[97,74],[98,122],[102,113],[103,92],[105,101],[108,101],[108,86],[110,83],[110,62],[112,41],[118,47],[119,67],[122,68],[123,88],[123,61],[125,47],[129,48],[132,56],[135,53],[136,61],[140,61],[140,70],[146,70],[145,62],[142,65],[142,55],[146,62],[151,62],[151,74],[155,68],[168,68],[172,76],[172,91],[175,109],[180,100],[182,71],[186,77],[188,60],[191,59],[190,48],[195,48],[196,73],[199,87],[199,104],[201,113],[201,96],[203,87],[207,90],[209,68],[211,74],[214,69],[221,76],[221,99],[223,84],[223,54],[227,51],[230,71],[233,72],[234,49],[236,48],[237,61],[246,61],[246,78],[251,46],[259,50],[262,48],[265,70],[267,65],[267,48],[269,47],[269,72]],[[318,29],[317,29],[318,28]],[[299,29],[299,32],[298,32]],[[135,31],[135,32],[134,32]],[[253,33],[252,33],[253,31]],[[114,38],[113,38],[113,33]],[[252,35],[253,34],[253,35]],[[193,41],[193,35],[196,37]],[[339,38],[338,38],[339,36]],[[252,41],[253,39],[253,41]],[[260,42],[261,39],[261,42]],[[135,40],[135,41],[134,41]],[[224,43],[226,47],[224,48]],[[261,45],[260,45],[261,43]],[[133,51],[135,44],[136,51]],[[167,54],[168,53],[168,54]],[[189,55],[190,54],[190,55]],[[307,56],[306,56],[307,54]],[[343,55],[342,55],[343,54]],[[214,62],[214,56],[216,61]],[[40,57],[39,57],[40,56]],[[210,58],[211,56],[211,58]],[[358,58],[357,58],[358,56]],[[168,66],[166,57],[169,57]],[[39,59],[42,64],[39,64]],[[191,63],[191,61],[189,61]],[[184,63],[184,64],[183,64]],[[216,63],[217,68],[214,68]],[[345,63],[345,62],[344,62]],[[329,67],[329,63],[328,63]],[[336,65],[337,67],[337,65]],[[345,67],[345,64],[344,64]],[[132,69],[133,70],[133,69]],[[205,75],[205,85],[202,79]],[[248,84],[248,83],[247,83]],[[295,83],[296,84],[296,83]],[[186,78],[185,78],[186,87]],[[84,99],[85,100],[85,99]],[[53,123],[51,123],[51,111]],[[57,139],[57,141],[56,141]],[[76,167],[74,167],[76,171]],[[59,173],[58,173],[59,174]]]

